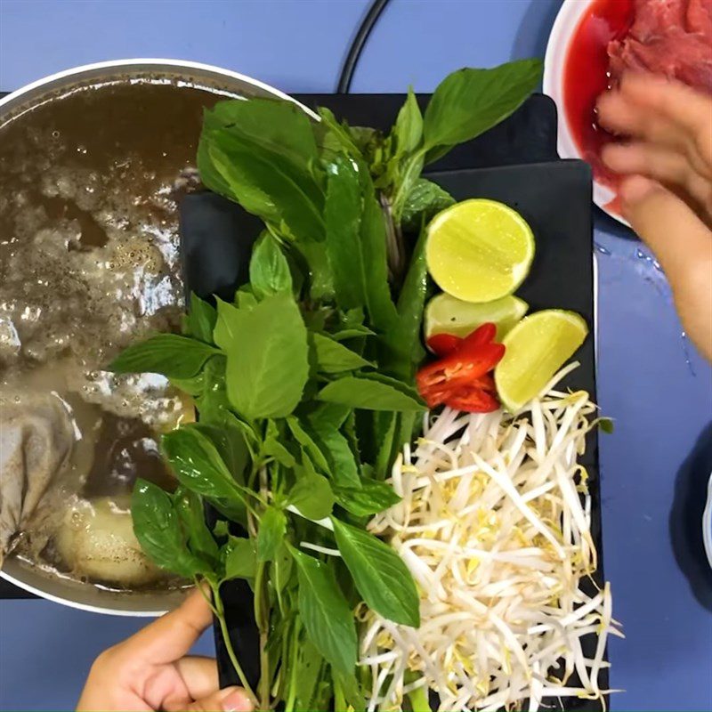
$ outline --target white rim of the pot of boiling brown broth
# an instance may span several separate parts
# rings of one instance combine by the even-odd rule
[[[265,94],[270,94],[271,96],[274,96],[279,99],[283,99],[285,101],[292,101],[296,105],[298,105],[305,113],[307,113],[310,117],[318,119],[319,117],[317,114],[315,114],[312,109],[309,107],[305,106],[303,103],[300,101],[296,101],[293,97],[289,96],[287,93],[284,93],[280,91],[279,89],[275,89],[273,86],[265,84],[264,82],[259,81],[258,79],[254,79],[252,77],[247,77],[245,74],[240,74],[239,72],[233,71],[231,69],[224,69],[223,67],[216,67],[212,64],[204,64],[202,62],[197,62],[197,61],[188,61],[188,60],[176,60],[176,59],[160,59],[156,57],[152,58],[134,58],[134,59],[123,59],[123,60],[106,60],[106,61],[98,61],[98,62],[92,62],[90,64],[82,64],[77,67],[71,67],[69,69],[62,69],[59,72],[55,72],[53,74],[47,75],[46,77],[42,77],[40,79],[36,79],[36,81],[31,82],[28,85],[21,86],[19,89],[16,89],[15,91],[8,93],[6,96],[4,96],[2,99],[0,99],[0,109],[4,107],[4,105],[8,103],[14,103],[18,99],[20,99],[23,95],[28,94],[33,92],[36,89],[41,89],[44,85],[49,85],[57,80],[61,79],[71,79],[72,77],[81,77],[81,75],[85,74],[86,72],[93,72],[97,69],[107,69],[107,70],[113,70],[113,69],[122,69],[122,68],[131,68],[131,67],[139,67],[141,66],[143,69],[148,69],[150,70],[152,67],[155,67],[156,69],[176,69],[176,70],[196,70],[199,72],[207,72],[209,74],[213,74],[215,77],[226,77],[228,79],[234,79],[238,82],[241,82],[245,85],[250,85],[255,87],[255,89],[258,89],[262,91]],[[157,610],[132,610],[132,609],[122,609],[120,607],[114,607],[114,608],[109,608],[106,606],[101,606],[101,605],[96,605],[93,603],[82,603],[79,601],[74,601],[69,597],[64,597],[60,595],[54,595],[48,591],[43,590],[42,588],[32,586],[26,581],[21,580],[20,578],[17,578],[15,576],[12,576],[12,574],[8,573],[6,570],[0,569],[0,578],[4,578],[6,581],[9,581],[12,585],[19,587],[25,591],[27,591],[30,594],[37,595],[40,598],[44,598],[48,601],[52,601],[53,603],[61,603],[61,605],[69,606],[70,608],[75,608],[80,611],[90,611],[93,613],[102,613],[106,615],[113,615],[113,616],[131,616],[134,618],[152,618],[156,616],[160,616],[163,613],[166,612],[165,608],[159,608]],[[166,592],[167,594],[168,592]],[[101,594],[100,594],[101,595]]]

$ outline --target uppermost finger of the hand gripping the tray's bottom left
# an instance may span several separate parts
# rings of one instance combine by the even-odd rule
[[[121,645],[125,658],[147,660],[154,665],[182,658],[213,622],[213,611],[200,591],[193,591],[183,603],[150,626],[132,635]]]

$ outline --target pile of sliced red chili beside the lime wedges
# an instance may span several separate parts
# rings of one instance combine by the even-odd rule
[[[493,341],[496,331],[494,324],[482,324],[454,351],[417,372],[417,388],[429,408],[448,405],[471,413],[498,409],[490,371],[505,355],[505,347]]]

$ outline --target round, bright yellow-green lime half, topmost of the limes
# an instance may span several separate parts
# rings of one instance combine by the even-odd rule
[[[465,302],[512,294],[529,274],[533,257],[530,226],[495,200],[457,203],[428,226],[428,270],[444,292]]]

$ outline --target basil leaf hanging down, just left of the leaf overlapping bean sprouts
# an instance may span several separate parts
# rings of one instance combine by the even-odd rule
[[[356,667],[356,627],[334,570],[291,547],[299,578],[299,612],[314,647],[337,670]]]

